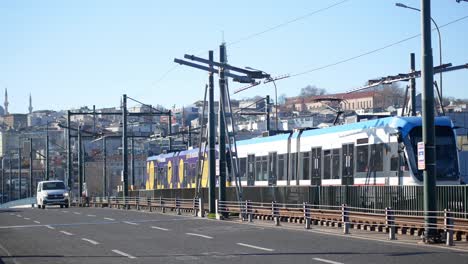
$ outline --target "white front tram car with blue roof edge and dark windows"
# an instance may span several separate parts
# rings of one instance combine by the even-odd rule
[[[388,117],[239,141],[242,184],[421,185],[421,123],[421,117]],[[437,117],[435,125],[437,184],[459,184],[453,123]]]

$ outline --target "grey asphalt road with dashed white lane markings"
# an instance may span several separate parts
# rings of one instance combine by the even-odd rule
[[[171,213],[0,210],[0,263],[463,263],[468,253]]]

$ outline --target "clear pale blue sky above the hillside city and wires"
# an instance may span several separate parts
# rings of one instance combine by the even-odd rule
[[[419,0],[397,0],[419,7]],[[10,112],[118,106],[120,96],[164,106],[202,99],[205,72],[179,66],[185,53],[206,57],[229,44],[340,0],[323,1],[13,1],[0,2],[0,88]],[[433,0],[439,26],[468,15],[468,3]],[[295,74],[420,33],[420,14],[390,0],[349,0],[326,11],[228,45],[229,63],[272,75]],[[468,63],[468,19],[441,28],[444,62]],[[437,35],[433,34],[438,62]],[[334,67],[278,81],[278,93],[306,85],[343,92],[368,79],[420,65],[420,37]],[[435,63],[437,64],[437,63]],[[172,69],[172,70],[171,70]],[[169,71],[171,70],[171,71]],[[169,71],[169,72],[168,72]],[[167,74],[165,74],[167,73]],[[438,77],[435,77],[438,80]],[[420,82],[418,81],[418,88]],[[230,88],[242,87],[231,83]],[[274,95],[270,85],[233,98]],[[468,98],[468,70],[444,75],[444,95]]]

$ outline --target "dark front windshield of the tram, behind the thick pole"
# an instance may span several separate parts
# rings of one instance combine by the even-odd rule
[[[437,126],[436,129],[436,173],[437,180],[458,180],[458,159],[455,136],[450,127]],[[418,142],[422,141],[422,128],[411,130],[410,141],[413,147],[414,160],[417,161]],[[417,164],[414,164],[417,167]],[[414,169],[413,171],[416,171]],[[422,180],[423,172],[418,170],[417,177]]]

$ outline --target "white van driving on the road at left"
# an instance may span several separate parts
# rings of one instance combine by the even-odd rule
[[[41,181],[37,184],[37,207],[45,209],[46,205],[60,205],[68,208],[68,190],[63,181]]]

